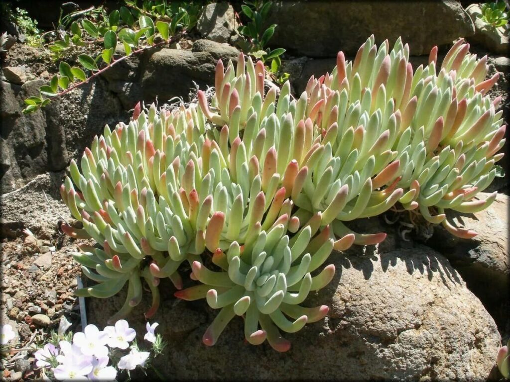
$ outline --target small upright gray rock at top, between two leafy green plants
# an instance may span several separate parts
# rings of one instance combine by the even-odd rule
[[[196,28],[202,37],[216,42],[229,42],[236,34],[234,8],[228,3],[208,4],[200,15]]]

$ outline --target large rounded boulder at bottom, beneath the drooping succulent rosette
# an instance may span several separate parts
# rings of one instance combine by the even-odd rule
[[[217,312],[203,301],[164,296],[151,320],[160,323],[169,347],[155,366],[177,380],[486,379],[501,338],[449,262],[426,247],[378,254],[371,246],[363,251],[328,259],[337,268],[335,278],[305,302],[328,305],[328,317],[285,334],[292,342],[287,353],[277,353],[267,343],[247,344],[239,317],[213,347],[205,346],[202,335]],[[169,289],[162,286],[167,293]],[[89,321],[106,324],[124,293],[106,302],[89,301]],[[141,335],[148,299],[129,316]]]

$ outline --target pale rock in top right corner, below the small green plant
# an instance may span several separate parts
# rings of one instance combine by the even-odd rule
[[[510,41],[508,40],[510,28],[508,24],[494,28],[494,26],[484,22],[479,4],[471,4],[466,8],[466,12],[475,26],[475,34],[468,38],[470,42],[483,45],[494,53],[508,53],[510,49]]]

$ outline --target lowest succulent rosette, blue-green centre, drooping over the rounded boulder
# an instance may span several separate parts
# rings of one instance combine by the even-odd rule
[[[285,234],[285,223],[274,225],[267,233],[262,231],[251,245],[240,246],[233,241],[225,253],[220,251],[213,256],[220,271],[212,271],[200,261],[193,262],[193,277],[201,284],[175,295],[186,300],[206,298],[211,308],[221,309],[203,335],[206,345],[216,343],[232,318],[244,315],[244,334],[249,343],[259,345],[267,338],[275,350],[287,351],[290,342],[278,329],[294,333],[307,322],[324,318],[327,306],[299,305],[311,290],[323,288],[335,274],[335,266],[330,264],[311,276],[334,245],[328,237],[328,227],[312,239],[319,224],[320,219],[315,219],[292,238]]]

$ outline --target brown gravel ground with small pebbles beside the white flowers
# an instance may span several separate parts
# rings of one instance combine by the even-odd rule
[[[30,231],[27,231],[30,233]],[[35,350],[47,342],[65,316],[71,331],[81,330],[80,306],[73,296],[80,265],[71,252],[78,243],[57,233],[54,240],[32,234],[0,244],[2,258],[2,324],[9,323],[17,336],[11,350],[2,354],[2,380],[33,380],[40,376],[35,366]]]

